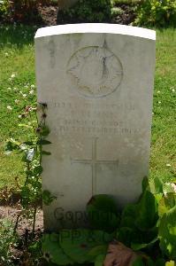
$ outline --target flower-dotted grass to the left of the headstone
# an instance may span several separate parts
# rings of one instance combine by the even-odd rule
[[[16,176],[23,181],[20,156],[4,155],[3,146],[8,137],[27,135],[18,127],[18,116],[19,110],[22,112],[27,104],[35,101],[35,96],[29,95],[30,86],[35,83],[35,30],[36,27],[0,27],[0,188],[14,186]],[[16,100],[19,100],[18,104]],[[12,111],[7,106],[11,106]]]

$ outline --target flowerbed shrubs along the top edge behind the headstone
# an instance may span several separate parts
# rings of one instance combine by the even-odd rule
[[[57,4],[57,0],[1,0],[0,20],[42,23],[40,6]],[[66,22],[111,22],[124,11],[134,12],[134,25],[147,27],[176,26],[175,0],[80,0],[72,8],[57,13],[57,24]],[[125,7],[126,7],[125,6]],[[124,6],[123,6],[124,7]],[[126,10],[126,8],[125,8]]]

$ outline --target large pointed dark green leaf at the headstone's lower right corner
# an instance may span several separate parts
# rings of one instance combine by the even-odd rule
[[[147,244],[157,237],[158,206],[154,195],[142,192],[136,204],[128,204],[123,209],[118,231],[119,240],[131,244]]]

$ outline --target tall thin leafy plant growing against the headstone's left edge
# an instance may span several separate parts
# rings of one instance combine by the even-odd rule
[[[16,152],[21,154],[21,160],[25,165],[26,179],[25,183],[20,187],[21,196],[21,213],[19,215],[33,216],[33,234],[35,225],[36,210],[39,202],[42,200],[46,205],[55,199],[50,192],[42,192],[41,174],[42,174],[42,155],[50,155],[50,152],[43,150],[43,145],[50,145],[50,141],[46,139],[50,134],[50,129],[46,126],[45,120],[47,105],[39,104],[38,106],[26,106],[22,113],[19,114],[19,127],[31,131],[31,139],[21,142],[14,138],[7,139],[4,147],[6,154]],[[41,119],[38,119],[36,111],[41,113]],[[27,122],[25,122],[27,121]],[[32,210],[32,211],[31,211]],[[17,224],[18,226],[17,218]]]

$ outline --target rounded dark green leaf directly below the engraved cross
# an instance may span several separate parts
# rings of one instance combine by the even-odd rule
[[[88,201],[88,221],[94,229],[114,231],[119,226],[116,202],[109,195],[95,195]]]

